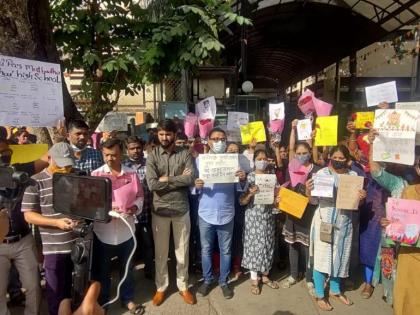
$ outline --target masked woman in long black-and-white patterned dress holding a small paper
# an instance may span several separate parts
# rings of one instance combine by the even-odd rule
[[[278,289],[277,282],[268,278],[268,273],[273,264],[275,246],[275,216],[274,205],[254,205],[254,196],[258,193],[255,185],[257,174],[267,174],[267,153],[257,150],[254,154],[255,171],[248,174],[249,188],[240,199],[239,203],[245,208],[244,226],[244,254],[242,267],[251,272],[251,292],[255,295],[261,293],[258,273],[262,274],[262,284],[272,289]]]

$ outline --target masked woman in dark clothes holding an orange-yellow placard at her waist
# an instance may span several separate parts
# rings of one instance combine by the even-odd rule
[[[315,165],[311,159],[311,147],[306,142],[298,142],[294,148],[294,159],[306,168],[307,178],[311,178],[312,174],[318,172],[320,167]],[[287,173],[287,181],[290,182],[290,172]],[[288,184],[289,189],[306,195],[306,187],[304,184],[298,183],[296,186]],[[306,285],[309,293],[314,295],[314,285],[312,283],[312,269],[308,267],[309,262],[309,231],[311,228],[312,217],[316,206],[308,204],[304,215],[301,219],[286,215],[286,222],[283,226],[283,235],[285,241],[289,244],[289,262],[290,276],[283,282],[284,288],[290,288],[299,280],[299,269],[305,272]],[[299,268],[300,267],[300,268]]]

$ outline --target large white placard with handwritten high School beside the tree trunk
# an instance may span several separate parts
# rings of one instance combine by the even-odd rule
[[[62,88],[59,64],[0,55],[0,125],[56,126]]]

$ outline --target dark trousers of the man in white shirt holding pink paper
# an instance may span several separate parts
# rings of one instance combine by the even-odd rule
[[[133,250],[133,239],[119,244],[109,245],[102,243],[95,235],[93,240],[93,265],[92,275],[93,279],[101,283],[101,294],[98,302],[100,305],[107,303],[110,300],[111,290],[111,272],[112,272],[112,257],[118,257],[119,275],[120,279],[124,276],[125,265],[128,257]],[[112,296],[114,296],[113,294]],[[123,285],[121,286],[120,299],[121,302],[127,304],[133,301],[134,298],[134,279],[133,279],[133,264],[130,264],[128,275]]]

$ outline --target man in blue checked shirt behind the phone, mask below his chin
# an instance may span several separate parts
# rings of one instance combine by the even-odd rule
[[[69,141],[76,158],[76,168],[90,174],[93,170],[104,164],[100,151],[88,148],[89,126],[80,119],[69,122],[67,126]]]

